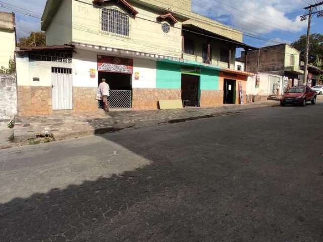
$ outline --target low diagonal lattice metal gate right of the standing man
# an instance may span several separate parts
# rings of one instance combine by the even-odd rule
[[[110,108],[131,108],[132,107],[132,91],[127,90],[110,90],[109,91],[109,107]]]

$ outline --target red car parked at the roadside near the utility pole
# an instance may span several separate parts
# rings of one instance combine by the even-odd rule
[[[308,86],[297,86],[288,89],[281,98],[281,106],[301,105],[306,106],[307,102],[316,103],[317,94]]]

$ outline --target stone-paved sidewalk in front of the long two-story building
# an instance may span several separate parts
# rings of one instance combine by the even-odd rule
[[[37,138],[58,141],[87,135],[104,134],[130,127],[144,127],[163,123],[227,115],[239,111],[279,105],[277,101],[264,101],[249,105],[227,105],[214,108],[184,108],[152,111],[112,111],[95,113],[60,114],[52,116],[16,117],[14,137],[16,143],[31,143]]]

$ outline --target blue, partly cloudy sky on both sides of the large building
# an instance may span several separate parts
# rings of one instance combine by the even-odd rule
[[[242,31],[246,44],[262,47],[291,43],[306,34],[307,21],[301,22],[299,16],[306,13],[305,6],[315,2],[318,0],[192,0],[192,10]],[[40,30],[39,18],[11,7],[6,9],[6,3],[41,16],[46,0],[0,0],[0,11],[16,14],[18,38]],[[323,10],[323,6],[318,10]],[[312,33],[323,33],[323,18],[313,17]]]

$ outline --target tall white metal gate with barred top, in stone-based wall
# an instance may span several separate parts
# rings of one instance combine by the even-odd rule
[[[52,67],[52,110],[72,110],[72,69]]]

